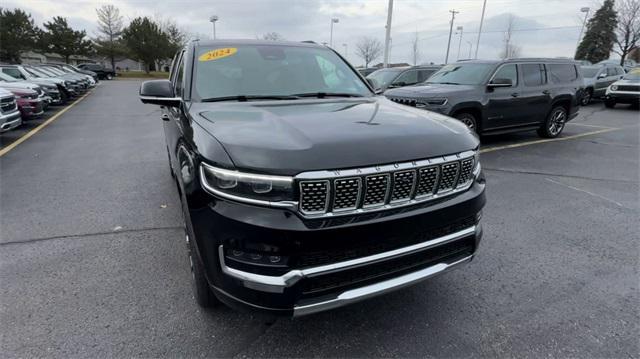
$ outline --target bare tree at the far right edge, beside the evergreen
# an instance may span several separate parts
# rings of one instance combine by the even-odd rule
[[[640,1],[618,0],[618,25],[613,51],[620,55],[620,65],[624,65],[627,55],[640,44]]]

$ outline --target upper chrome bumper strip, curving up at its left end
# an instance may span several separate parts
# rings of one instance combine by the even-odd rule
[[[461,231],[448,234],[446,236],[434,238],[432,240],[417,243],[408,247],[394,249],[392,251],[373,254],[366,257],[351,259],[343,262],[337,262],[332,264],[326,264],[318,267],[310,267],[305,269],[294,269],[281,276],[267,276],[262,274],[256,274],[251,272],[241,271],[235,268],[228,267],[224,260],[224,248],[221,245],[218,247],[218,255],[220,259],[220,265],[222,272],[228,276],[239,279],[243,285],[247,288],[269,292],[269,293],[282,293],[285,288],[291,287],[298,281],[305,277],[319,276],[330,272],[339,270],[345,270],[349,268],[355,268],[363,265],[368,265],[390,258],[410,254],[413,252],[425,250],[427,248],[435,247],[447,242],[455,241],[474,235],[476,233],[476,226],[471,226]]]

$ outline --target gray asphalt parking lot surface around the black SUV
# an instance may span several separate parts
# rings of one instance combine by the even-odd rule
[[[104,82],[0,157],[0,357],[640,355],[637,110],[595,103],[560,139],[483,140],[469,265],[269,320],[192,299],[160,112],[138,86]]]

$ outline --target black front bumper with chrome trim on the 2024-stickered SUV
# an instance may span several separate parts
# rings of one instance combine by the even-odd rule
[[[484,187],[480,176],[467,191],[440,201],[319,220],[205,193],[188,202],[198,255],[216,296],[240,309],[299,316],[399,289],[470,261],[482,238]],[[236,253],[260,254],[263,260],[251,262]]]

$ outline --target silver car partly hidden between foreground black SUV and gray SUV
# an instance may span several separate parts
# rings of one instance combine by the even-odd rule
[[[380,90],[411,86],[426,81],[442,66],[408,66],[380,69],[367,75]]]

